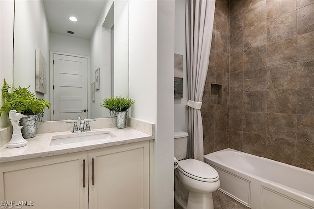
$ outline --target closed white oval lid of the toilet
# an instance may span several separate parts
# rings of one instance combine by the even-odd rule
[[[213,167],[196,159],[180,160],[179,170],[200,181],[215,182],[219,179],[218,172]]]

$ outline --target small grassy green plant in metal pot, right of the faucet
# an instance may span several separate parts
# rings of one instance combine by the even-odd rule
[[[128,109],[134,103],[135,101],[131,98],[118,96],[104,99],[101,106],[115,112],[117,117],[117,128],[123,129],[126,127]]]

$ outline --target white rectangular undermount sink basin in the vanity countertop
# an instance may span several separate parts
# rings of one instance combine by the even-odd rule
[[[82,133],[69,133],[66,135],[52,136],[49,145],[71,144],[84,141],[97,141],[115,137],[110,131],[92,131]]]

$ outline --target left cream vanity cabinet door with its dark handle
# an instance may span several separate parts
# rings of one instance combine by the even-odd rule
[[[88,209],[87,154],[1,163],[1,201],[27,201],[29,206],[23,208],[31,209]]]

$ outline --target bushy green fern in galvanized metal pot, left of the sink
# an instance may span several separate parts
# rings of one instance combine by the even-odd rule
[[[45,99],[36,98],[29,87],[11,87],[5,80],[2,86],[2,96],[5,103],[0,109],[0,116],[2,117],[3,112],[9,114],[10,110],[13,109],[17,113],[27,115],[27,117],[20,119],[20,124],[23,126],[21,130],[23,138],[35,137],[37,120],[42,118],[45,108],[49,109],[51,106]],[[12,92],[9,92],[10,88]]]

